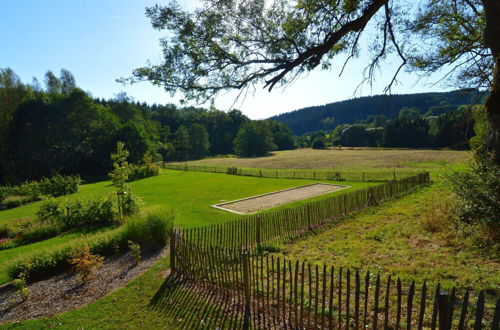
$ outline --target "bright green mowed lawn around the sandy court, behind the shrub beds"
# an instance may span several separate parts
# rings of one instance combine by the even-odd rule
[[[227,175],[220,173],[184,172],[169,170],[162,174],[130,183],[130,187],[143,201],[143,210],[172,208],[180,227],[198,227],[220,223],[239,217],[234,213],[218,210],[211,205],[221,201],[230,201],[277,190],[298,187],[321,182],[302,179],[273,179]],[[329,181],[329,183],[334,183]],[[327,198],[332,194],[341,194],[354,189],[365,188],[376,183],[340,182],[351,188],[316,197]],[[89,199],[106,197],[114,188],[110,181],[82,185],[77,194],[60,197],[62,200]],[[15,209],[0,211],[0,221],[16,218],[34,217],[42,202],[35,202]],[[300,204],[301,202],[296,202]],[[287,207],[292,204],[287,204]]]

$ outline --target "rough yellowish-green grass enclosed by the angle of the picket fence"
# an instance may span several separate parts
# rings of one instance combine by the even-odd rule
[[[409,283],[445,288],[487,289],[498,296],[500,257],[468,246],[452,231],[428,232],[426,211],[449,196],[443,182],[419,188],[397,200],[355,213],[316,236],[283,246],[291,259],[392,274]]]

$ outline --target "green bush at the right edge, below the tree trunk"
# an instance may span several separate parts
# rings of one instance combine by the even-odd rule
[[[457,195],[460,220],[490,227],[500,233],[500,166],[488,157],[477,157],[471,170],[456,172],[449,181]]]

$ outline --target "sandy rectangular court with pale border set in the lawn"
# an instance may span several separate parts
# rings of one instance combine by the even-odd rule
[[[346,188],[349,188],[349,186],[328,183],[313,183],[306,186],[279,190],[263,195],[256,195],[235,201],[219,203],[212,206],[233,213],[250,214]]]

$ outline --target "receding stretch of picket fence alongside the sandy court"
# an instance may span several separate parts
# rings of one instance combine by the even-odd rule
[[[397,197],[428,182],[429,173],[424,172],[305,205],[179,230],[184,239],[201,247],[255,248],[268,242],[295,239],[334,223],[350,212]]]

